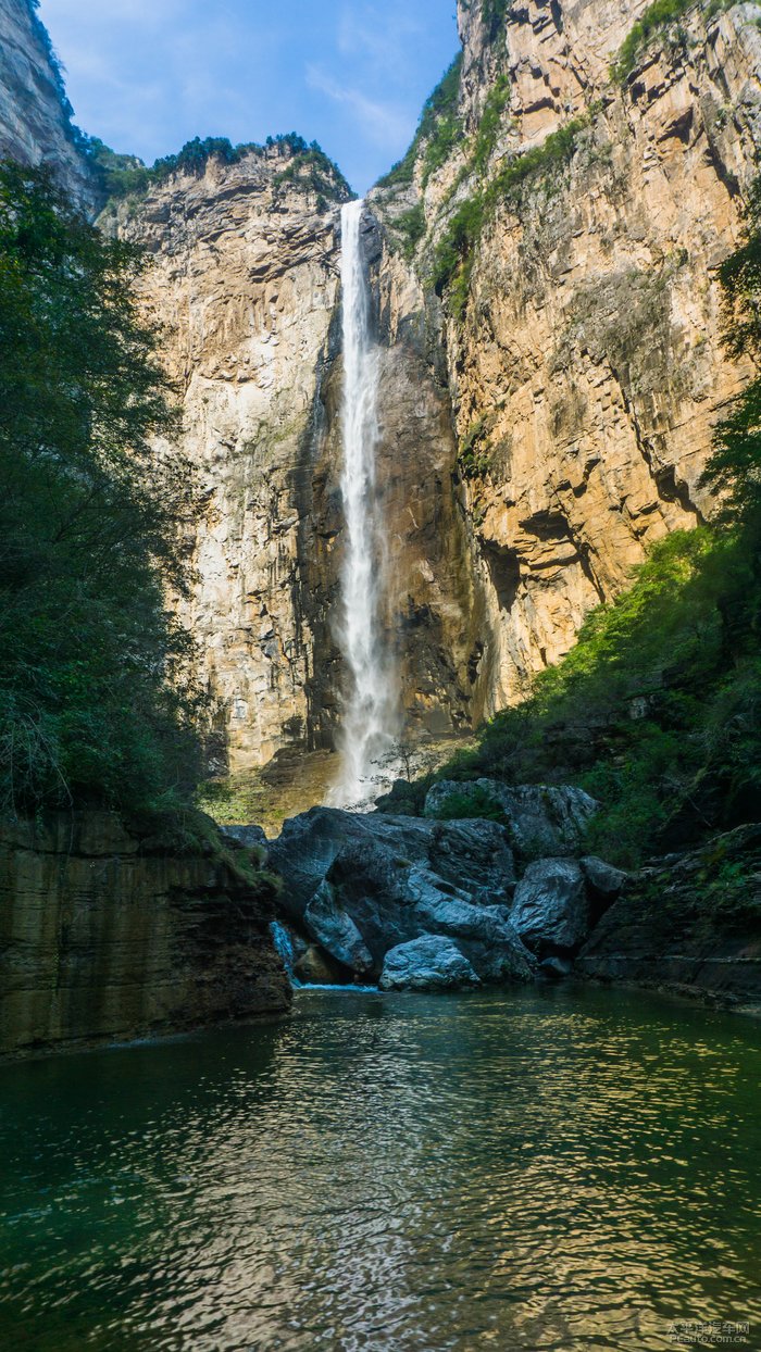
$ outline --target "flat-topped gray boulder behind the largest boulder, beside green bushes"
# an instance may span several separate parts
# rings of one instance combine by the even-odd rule
[[[466,781],[441,780],[434,784],[423,807],[426,818],[446,817],[449,804],[474,799],[474,814],[488,798],[504,814],[510,844],[523,857],[572,854],[597,811],[589,794],[570,784],[520,784],[511,787],[496,779]]]

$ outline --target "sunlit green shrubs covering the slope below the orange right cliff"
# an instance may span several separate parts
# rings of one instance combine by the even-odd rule
[[[761,368],[761,188],[722,266],[726,345]],[[588,846],[623,865],[761,818],[761,376],[718,425],[711,526],[658,544],[527,699],[441,773],[580,784]],[[428,780],[397,791],[420,807]]]

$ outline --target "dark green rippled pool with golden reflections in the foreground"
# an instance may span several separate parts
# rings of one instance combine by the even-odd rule
[[[760,1060],[561,987],[7,1065],[0,1348],[758,1348]]]

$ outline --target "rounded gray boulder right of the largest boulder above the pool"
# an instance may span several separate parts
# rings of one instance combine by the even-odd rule
[[[530,864],[515,888],[510,918],[526,948],[539,957],[574,953],[591,923],[581,867],[572,859]]]

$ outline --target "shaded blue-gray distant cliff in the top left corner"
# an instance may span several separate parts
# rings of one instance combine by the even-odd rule
[[[0,0],[0,158],[49,165],[74,201],[93,211],[97,192],[32,0]]]

